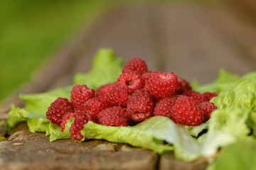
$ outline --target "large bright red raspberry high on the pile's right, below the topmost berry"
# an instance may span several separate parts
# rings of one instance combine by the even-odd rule
[[[156,98],[164,98],[174,94],[178,86],[178,77],[173,72],[154,72],[149,75],[146,89]]]

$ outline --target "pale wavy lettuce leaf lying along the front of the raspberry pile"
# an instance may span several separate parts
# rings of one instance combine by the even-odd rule
[[[112,127],[89,122],[81,133],[84,135],[81,142],[87,139],[104,139],[148,148],[159,154],[174,150],[176,158],[188,162],[200,157],[200,145],[188,130],[162,116],[149,118],[132,127]]]

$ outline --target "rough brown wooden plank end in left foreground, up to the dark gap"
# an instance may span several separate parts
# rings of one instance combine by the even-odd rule
[[[158,155],[149,149],[105,140],[50,142],[44,133],[20,126],[8,141],[0,142],[0,169],[153,170],[157,166]]]

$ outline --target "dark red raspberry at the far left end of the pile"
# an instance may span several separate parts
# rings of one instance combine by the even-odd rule
[[[50,120],[51,123],[55,123],[60,126],[63,115],[73,111],[73,104],[68,101],[67,98],[57,98],[53,103],[48,107],[46,112],[46,118]]]

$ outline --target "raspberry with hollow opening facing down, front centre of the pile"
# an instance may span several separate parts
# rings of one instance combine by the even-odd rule
[[[138,89],[131,96],[128,97],[127,112],[131,115],[135,122],[146,120],[149,115],[152,115],[154,103],[149,91],[145,89]],[[142,114],[140,114],[142,113]],[[139,114],[139,119],[136,117]],[[144,116],[141,116],[145,114]],[[144,118],[142,118],[144,117]]]

